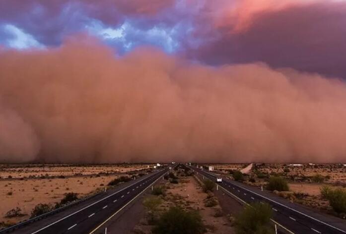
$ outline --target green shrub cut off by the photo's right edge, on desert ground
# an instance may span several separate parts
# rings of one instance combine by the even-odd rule
[[[346,213],[346,190],[342,188],[333,189],[328,186],[321,188],[322,197],[329,201],[330,206],[338,214]]]

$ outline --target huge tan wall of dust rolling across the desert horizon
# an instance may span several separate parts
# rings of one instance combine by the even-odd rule
[[[341,162],[346,84],[94,39],[0,50],[0,161]]]

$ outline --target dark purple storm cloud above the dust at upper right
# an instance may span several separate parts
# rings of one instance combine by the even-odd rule
[[[225,22],[212,42],[187,52],[209,64],[264,61],[346,78],[346,2],[296,5],[262,11],[244,30]],[[195,32],[203,35],[205,28]],[[210,38],[210,36],[209,36]]]

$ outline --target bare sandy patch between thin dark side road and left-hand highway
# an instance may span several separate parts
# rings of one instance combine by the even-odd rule
[[[56,203],[65,193],[78,193],[85,196],[97,188],[103,188],[117,176],[85,176],[55,179],[29,179],[0,181],[0,222],[16,223],[28,219],[31,210],[39,203]],[[104,185],[103,185],[104,184]],[[12,195],[9,195],[12,193]],[[7,211],[19,207],[22,217],[4,218]]]

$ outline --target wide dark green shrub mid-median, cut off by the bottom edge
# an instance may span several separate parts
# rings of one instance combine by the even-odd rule
[[[184,211],[171,207],[162,214],[153,228],[154,234],[202,234],[205,232],[202,217],[197,211]]]

